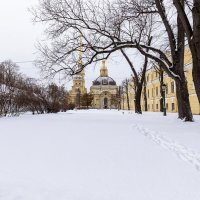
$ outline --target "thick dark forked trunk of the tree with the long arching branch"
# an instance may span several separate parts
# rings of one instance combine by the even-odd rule
[[[199,0],[196,0],[199,1]],[[190,108],[189,93],[187,88],[187,81],[184,74],[184,45],[185,45],[185,30],[181,21],[181,12],[178,12],[177,16],[177,38],[172,30],[171,25],[166,17],[165,8],[163,1],[155,0],[156,7],[158,8],[159,14],[165,25],[168,39],[171,48],[171,56],[173,61],[173,70],[176,75],[180,78],[176,78],[176,91],[177,91],[177,102],[179,110],[179,118],[185,119],[185,121],[193,121],[193,116]],[[174,2],[176,3],[176,2]],[[184,10],[184,0],[179,0]]]

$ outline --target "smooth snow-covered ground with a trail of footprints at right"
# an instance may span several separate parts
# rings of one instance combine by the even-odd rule
[[[69,111],[0,119],[0,200],[199,200],[200,116]]]

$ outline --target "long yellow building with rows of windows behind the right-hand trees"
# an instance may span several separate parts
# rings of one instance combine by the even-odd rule
[[[192,113],[195,115],[200,114],[200,104],[197,99],[197,95],[194,88],[192,79],[192,56],[189,49],[185,51],[185,75],[188,82],[189,99]],[[172,78],[164,73],[163,82],[166,85],[166,109],[167,112],[178,112],[177,98],[176,98],[176,85]],[[129,81],[129,102],[131,110],[134,110],[134,89],[133,82]],[[160,79],[159,73],[155,67],[150,68],[146,72],[146,96],[148,111],[159,112],[160,111]],[[127,97],[122,96],[122,108],[127,109]],[[144,92],[141,97],[142,110],[145,110]]]

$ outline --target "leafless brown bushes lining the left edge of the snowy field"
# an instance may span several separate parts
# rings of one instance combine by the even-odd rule
[[[43,86],[35,79],[24,77],[12,61],[0,63],[0,116],[23,112],[57,113],[71,109],[63,86]]]

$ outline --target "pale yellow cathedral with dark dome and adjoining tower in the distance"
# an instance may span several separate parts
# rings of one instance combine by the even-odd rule
[[[75,107],[80,107],[81,95],[86,94],[87,89],[85,88],[85,73],[84,70],[73,77],[73,86],[69,91],[70,102]],[[102,61],[100,69],[100,76],[93,81],[90,87],[90,92],[93,96],[92,108],[94,109],[115,109],[116,97],[118,93],[118,87],[116,82],[108,76],[108,69],[106,61]]]

